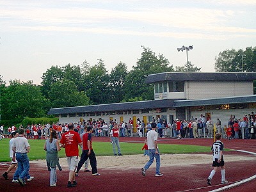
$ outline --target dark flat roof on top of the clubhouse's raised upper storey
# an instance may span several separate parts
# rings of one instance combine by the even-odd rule
[[[162,81],[253,81],[256,72],[163,72],[150,74],[145,83]]]

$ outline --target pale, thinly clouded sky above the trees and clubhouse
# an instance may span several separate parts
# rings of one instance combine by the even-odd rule
[[[255,0],[0,0],[0,75],[42,82],[52,66],[95,65],[131,70],[142,45],[170,61],[214,72],[227,49],[256,46]]]

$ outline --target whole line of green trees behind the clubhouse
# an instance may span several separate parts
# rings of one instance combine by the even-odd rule
[[[52,66],[42,74],[40,85],[33,84],[33,81],[20,82],[14,79],[6,86],[0,74],[1,120],[16,119],[22,122],[26,117],[46,117],[50,108],[152,100],[154,87],[144,83],[148,74],[198,72],[201,69],[190,61],[182,67],[173,67],[163,54],[141,47],[141,58],[130,71],[120,61],[108,72],[104,60],[99,59],[95,65],[84,61],[78,66]],[[256,47],[246,47],[246,51],[223,51],[215,60],[216,71],[255,72]]]

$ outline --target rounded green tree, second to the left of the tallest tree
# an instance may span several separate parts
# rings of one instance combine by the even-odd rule
[[[109,76],[104,61],[98,59],[98,63],[90,67],[89,73],[84,76],[85,93],[93,104],[109,103]]]

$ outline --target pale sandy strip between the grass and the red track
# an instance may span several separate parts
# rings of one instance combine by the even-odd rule
[[[97,156],[97,168],[141,168],[147,163],[148,157],[143,155]],[[256,157],[224,155],[225,162],[256,160]],[[30,161],[30,163],[45,164],[45,160]],[[161,154],[161,166],[188,166],[191,164],[209,164],[211,166],[212,155],[210,154]],[[62,168],[67,168],[66,158],[60,159]],[[156,166],[154,162],[152,167]],[[90,167],[90,166],[89,166]]]

